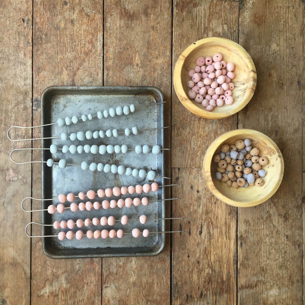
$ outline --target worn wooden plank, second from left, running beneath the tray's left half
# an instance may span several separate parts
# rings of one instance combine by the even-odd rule
[[[46,87],[102,85],[102,37],[102,2],[34,1],[34,125],[40,124],[40,95]],[[33,159],[40,160],[40,152]],[[33,196],[41,198],[40,164],[33,166],[33,173]],[[33,219],[41,222],[41,214]],[[42,252],[41,239],[34,239],[32,304],[100,304],[101,272],[101,259],[52,260]]]

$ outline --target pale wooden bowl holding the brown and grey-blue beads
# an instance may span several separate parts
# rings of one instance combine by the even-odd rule
[[[221,145],[234,144],[237,140],[249,138],[253,147],[260,149],[259,156],[266,156],[269,163],[262,168],[267,171],[262,178],[264,185],[249,185],[247,188],[228,187],[215,178],[217,163],[212,158],[220,152]],[[220,200],[232,206],[248,207],[263,203],[278,189],[284,174],[284,161],[278,146],[266,135],[252,129],[236,129],[218,137],[207,149],[203,159],[203,176],[210,191]]]

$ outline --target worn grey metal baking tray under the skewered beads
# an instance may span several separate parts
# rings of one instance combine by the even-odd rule
[[[65,118],[66,116],[72,117],[77,115],[81,117],[82,114],[96,114],[99,110],[110,109],[111,107],[125,106],[135,104],[135,106],[149,105],[152,103],[163,102],[164,97],[160,89],[156,87],[68,87],[68,86],[52,86],[46,88],[41,95],[41,124],[49,124],[56,122],[59,117]],[[150,107],[142,107],[136,109],[135,113],[129,115],[116,116],[114,118],[108,117],[98,119],[94,117],[93,120],[86,122],[80,121],[78,124],[71,124],[70,126],[59,127],[57,124],[50,125],[42,128],[42,138],[60,136],[63,131],[69,134],[77,131],[95,131],[104,130],[109,128],[117,128],[119,131],[124,131],[126,127],[138,126],[138,129],[163,127],[163,104]],[[41,141],[43,148],[49,148],[51,144],[56,144],[59,147],[63,145],[85,145],[85,144],[112,144],[123,145],[126,144],[128,148],[135,148],[136,145],[160,145],[162,148],[167,148],[170,143],[164,143],[164,129],[139,131],[138,135],[125,136],[120,135],[117,138],[99,138],[85,141],[70,141],[62,142],[59,139],[45,139]],[[166,146],[166,147],[165,147]],[[52,155],[49,150],[42,150],[42,161],[53,158],[56,162],[59,159],[66,159],[67,163],[81,164],[86,160],[89,164],[91,162],[102,162],[104,164],[116,164],[117,166],[123,164],[125,167],[131,168],[144,168],[145,170],[153,169],[157,171],[157,175],[164,176],[164,157],[161,152],[159,155],[149,154],[136,154],[134,151],[129,151],[127,154],[114,154],[114,155],[96,155],[93,154],[74,154],[59,151],[57,154]],[[163,178],[156,178],[159,185],[164,185]],[[79,192],[86,193],[88,190],[93,189],[97,191],[99,188],[106,189],[107,187],[113,188],[114,186],[122,187],[124,185],[144,185],[147,183],[147,178],[141,179],[139,177],[112,174],[111,172],[105,174],[104,172],[91,172],[90,170],[82,170],[79,166],[68,165],[64,169],[59,169],[58,165],[53,167],[47,167],[46,163],[42,163],[42,198],[57,198],[60,193],[67,194],[73,192],[78,194]],[[167,181],[168,182],[168,181]],[[126,197],[143,197],[147,196],[144,193],[142,195],[126,194],[121,195],[122,198]],[[159,188],[158,192],[150,192],[147,196],[149,200],[164,199],[164,188]],[[104,198],[105,199],[105,198]],[[107,198],[109,199],[109,198]],[[118,200],[118,197],[111,197],[111,199]],[[102,202],[98,196],[91,200]],[[86,197],[84,202],[88,201]],[[75,199],[76,203],[81,202],[80,199]],[[57,205],[59,202],[43,201],[42,209],[46,209],[50,204]],[[70,203],[65,203],[65,206],[69,206]],[[142,204],[138,207],[132,206],[131,208],[124,207],[120,209],[118,207],[114,209],[104,210],[102,207],[99,210],[92,209],[91,211],[71,212],[70,209],[66,209],[64,213],[60,214],[56,211],[54,214],[49,214],[47,211],[42,212],[42,223],[53,224],[56,220],[77,220],[79,218],[86,219],[93,217],[102,217],[113,215],[116,219],[120,219],[122,215],[127,215],[129,219],[136,219],[140,215],[145,214],[148,218],[164,218],[165,217],[165,204],[162,201],[149,203],[148,206]],[[139,221],[128,222],[123,226],[117,221],[114,227],[101,225],[95,227],[91,224],[90,227],[81,228],[84,234],[87,230],[92,231],[96,229],[108,229],[114,228],[116,230],[123,229],[124,232],[131,232],[132,228],[139,228],[141,231],[145,228],[149,231],[165,231],[165,221],[152,220],[147,221],[146,224],[141,224]],[[69,229],[60,229],[68,231]],[[79,230],[75,226],[74,232]],[[59,230],[55,230],[52,226],[42,227],[42,235],[56,235]],[[57,237],[44,237],[42,238],[42,249],[44,253],[54,259],[63,258],[81,258],[81,257],[128,257],[128,256],[154,256],[159,254],[165,245],[165,234],[150,234],[147,238],[144,238],[141,234],[139,238],[134,238],[131,234],[124,235],[119,239],[88,239],[84,236],[83,239],[78,241],[77,239],[60,241]]]

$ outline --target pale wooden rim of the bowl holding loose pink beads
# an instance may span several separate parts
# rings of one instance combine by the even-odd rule
[[[194,102],[192,102],[188,96],[186,95],[182,81],[181,81],[181,72],[182,72],[182,66],[183,63],[186,59],[186,57],[198,46],[203,45],[208,42],[218,42],[222,44],[228,44],[230,46],[233,46],[234,48],[238,49],[240,54],[242,54],[243,59],[245,60],[247,66],[249,67],[249,78],[251,79],[251,88],[253,90],[249,90],[247,95],[245,96],[243,102],[236,106],[236,108],[232,108],[231,110],[225,111],[225,112],[209,112],[209,111],[200,111],[197,106],[195,106]],[[257,74],[256,74],[256,68],[253,63],[253,60],[249,53],[238,43],[235,41],[232,41],[227,38],[222,38],[222,37],[208,37],[208,38],[203,38],[200,40],[195,41],[191,45],[189,45],[179,56],[175,68],[174,68],[174,74],[173,74],[173,80],[174,80],[174,88],[176,91],[176,95],[178,96],[178,99],[182,103],[182,105],[188,109],[190,112],[196,114],[199,117],[204,117],[206,119],[223,119],[226,117],[230,117],[231,115],[239,112],[242,108],[244,108],[252,98],[255,88],[256,88],[256,83],[257,83]],[[202,109],[204,110],[204,109]]]

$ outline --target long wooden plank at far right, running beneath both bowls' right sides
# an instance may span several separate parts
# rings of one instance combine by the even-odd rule
[[[258,77],[252,101],[239,113],[239,128],[273,139],[285,164],[271,199],[238,209],[240,304],[302,304],[302,6],[302,1],[240,3],[239,42]]]

